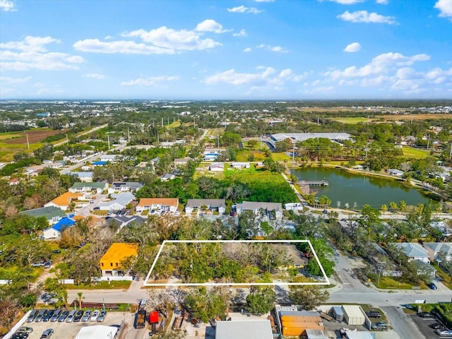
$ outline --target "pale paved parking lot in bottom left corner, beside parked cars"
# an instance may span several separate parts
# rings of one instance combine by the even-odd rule
[[[23,326],[31,327],[33,329],[32,333],[28,336],[28,339],[40,339],[40,336],[43,331],[47,328],[53,328],[54,334],[52,335],[52,339],[73,339],[76,337],[78,331],[85,326],[95,326],[95,325],[121,325],[124,321],[125,330],[121,338],[124,339],[132,339],[132,338],[143,338],[143,334],[145,331],[138,331],[133,328],[133,317],[134,314],[130,314],[129,312],[108,312],[103,322],[50,322],[50,321],[41,321],[36,323],[35,321],[31,323],[23,323]]]

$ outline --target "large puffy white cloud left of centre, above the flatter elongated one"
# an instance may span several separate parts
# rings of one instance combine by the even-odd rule
[[[198,31],[173,30],[162,26],[149,32],[141,29],[124,32],[121,35],[123,37],[140,37],[144,42],[153,44],[155,47],[185,51],[209,49],[221,45],[220,42],[215,42],[210,38],[201,38],[201,34],[202,32]]]

